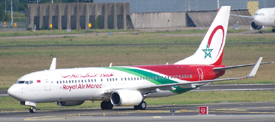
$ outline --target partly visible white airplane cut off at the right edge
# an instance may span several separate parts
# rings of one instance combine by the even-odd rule
[[[255,12],[254,17],[252,16],[242,16],[242,15],[233,15],[235,17],[251,18],[251,27],[255,30],[260,30],[263,33],[263,27],[275,27],[275,8],[262,8]],[[274,29],[272,30],[275,31]]]

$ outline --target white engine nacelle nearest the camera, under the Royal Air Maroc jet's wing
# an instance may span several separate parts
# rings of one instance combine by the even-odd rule
[[[137,90],[117,90],[111,94],[111,102],[116,106],[138,105],[143,96]]]

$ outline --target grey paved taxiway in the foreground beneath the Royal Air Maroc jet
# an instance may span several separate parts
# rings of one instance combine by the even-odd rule
[[[198,107],[208,106],[208,115],[199,115]],[[2,111],[1,121],[262,121],[275,120],[275,102],[215,103],[200,105],[149,105],[146,110],[133,107],[115,107],[113,110],[100,108]],[[39,109],[39,108],[38,108]],[[175,113],[171,113],[175,110]]]

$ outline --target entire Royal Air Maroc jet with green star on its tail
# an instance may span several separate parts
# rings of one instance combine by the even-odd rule
[[[221,7],[198,50],[175,64],[56,69],[53,58],[49,70],[22,76],[8,93],[30,106],[31,113],[36,112],[36,103],[74,106],[86,100],[102,101],[102,109],[114,105],[146,109],[145,98],[177,95],[210,82],[251,78],[262,57],[256,64],[222,65],[229,13],[230,6]],[[226,69],[245,66],[254,66],[247,76],[216,79]]]

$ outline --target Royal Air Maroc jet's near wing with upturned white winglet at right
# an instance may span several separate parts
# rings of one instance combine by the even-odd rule
[[[228,80],[240,80],[240,79],[246,79],[246,78],[252,78],[256,75],[259,66],[261,65],[262,62],[262,57],[259,58],[256,64],[254,64],[254,67],[250,71],[250,73],[244,77],[234,77],[234,78],[224,78],[224,79],[213,79],[213,80],[202,80],[202,81],[193,81],[193,82],[184,82],[184,83],[172,83],[172,84],[162,84],[162,85],[153,85],[153,86],[143,86],[143,87],[137,87],[137,88],[129,88],[129,89],[136,89],[140,91],[152,91],[154,89],[166,89],[172,86],[184,86],[184,85],[203,85],[205,83],[210,83],[210,82],[218,82],[218,81],[228,81]],[[248,64],[245,66],[251,66],[252,64]],[[243,67],[240,65],[240,67]],[[224,69],[223,69],[224,70]],[[117,89],[110,89],[104,92],[104,94],[111,94],[114,90]]]

